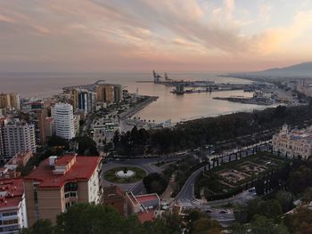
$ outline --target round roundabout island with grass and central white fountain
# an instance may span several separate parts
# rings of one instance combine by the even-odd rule
[[[143,180],[147,173],[137,166],[117,166],[104,172],[103,175],[108,182],[134,183]]]

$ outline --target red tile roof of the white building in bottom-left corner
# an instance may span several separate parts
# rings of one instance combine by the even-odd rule
[[[0,193],[2,193],[0,210],[4,210],[6,207],[19,206],[24,194],[23,179],[0,179]]]

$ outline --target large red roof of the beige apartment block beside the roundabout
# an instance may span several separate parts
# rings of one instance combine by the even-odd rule
[[[67,162],[73,156],[63,156],[57,159],[57,162]],[[101,157],[76,157],[76,163],[70,167],[65,174],[54,174],[53,167],[49,165],[49,158],[46,158],[37,166],[27,177],[25,181],[40,182],[38,188],[52,189],[62,188],[66,182],[88,181],[94,173]]]

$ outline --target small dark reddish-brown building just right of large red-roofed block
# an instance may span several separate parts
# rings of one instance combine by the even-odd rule
[[[117,185],[111,185],[103,188],[101,203],[105,206],[115,208],[120,215],[125,214],[125,192]]]

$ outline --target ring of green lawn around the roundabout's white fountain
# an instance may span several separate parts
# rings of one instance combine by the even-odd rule
[[[146,172],[143,169],[136,166],[127,166],[127,170],[134,171],[135,175],[129,178],[119,178],[116,173],[122,170],[124,170],[124,166],[112,168],[104,173],[104,179],[115,183],[133,183],[143,180],[146,176]]]

